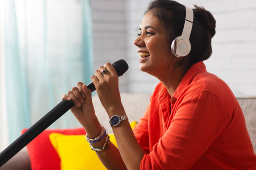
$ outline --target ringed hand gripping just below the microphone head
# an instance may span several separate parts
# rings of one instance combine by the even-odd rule
[[[105,69],[108,72],[102,75],[101,72]],[[115,68],[110,63],[106,63],[104,67],[101,66],[99,70],[95,70],[94,74],[95,76],[91,76],[91,80],[107,113],[116,107],[122,107],[118,75]]]

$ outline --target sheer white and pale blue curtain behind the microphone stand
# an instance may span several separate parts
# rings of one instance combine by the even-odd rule
[[[6,88],[9,141],[61,102],[78,81],[91,82],[89,0],[7,0]],[[68,111],[51,128],[80,127]]]

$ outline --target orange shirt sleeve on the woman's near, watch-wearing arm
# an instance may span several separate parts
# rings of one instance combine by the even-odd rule
[[[141,170],[188,170],[230,120],[221,99],[206,91],[186,96],[174,112],[165,135],[144,155]]]

